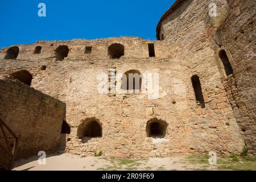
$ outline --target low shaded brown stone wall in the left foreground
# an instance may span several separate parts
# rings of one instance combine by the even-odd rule
[[[0,80],[0,117],[20,135],[18,157],[37,155],[39,151],[54,152],[64,115],[63,102],[18,80]],[[0,142],[6,145],[3,139]]]

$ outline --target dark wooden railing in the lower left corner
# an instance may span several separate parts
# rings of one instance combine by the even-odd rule
[[[19,136],[16,135],[1,118],[0,129],[0,166],[6,170],[11,170],[14,167],[15,155],[18,150]],[[9,135],[7,135],[6,131],[9,133]],[[11,137],[9,137],[10,134]],[[10,139],[14,140],[14,143],[10,143]]]

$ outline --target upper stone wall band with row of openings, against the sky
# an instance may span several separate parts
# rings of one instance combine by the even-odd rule
[[[14,45],[19,47],[17,60],[52,59],[55,60],[55,50],[60,45],[67,45],[69,48],[68,57],[65,59],[104,59],[108,58],[108,47],[114,43],[122,44],[125,47],[125,57],[148,57],[148,43],[154,41],[144,40],[136,37],[121,37],[96,40],[71,40],[71,41],[38,41],[36,44]],[[41,46],[41,53],[35,54],[35,47]],[[156,57],[166,57],[168,52],[161,52],[161,44],[155,45]],[[85,53],[85,47],[92,47],[92,53]],[[0,51],[0,59],[6,55],[9,47]],[[159,50],[159,51],[158,51]]]

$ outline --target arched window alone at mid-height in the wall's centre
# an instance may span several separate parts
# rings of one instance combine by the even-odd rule
[[[123,74],[122,89],[123,90],[141,90],[142,75],[137,70],[130,70]]]

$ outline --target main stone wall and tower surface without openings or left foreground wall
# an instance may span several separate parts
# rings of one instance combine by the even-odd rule
[[[26,69],[32,73],[33,88],[67,104],[65,120],[71,134],[66,150],[72,154],[102,151],[122,158],[209,151],[239,154],[245,145],[254,154],[255,2],[213,2],[216,17],[209,16],[209,1],[180,1],[160,22],[162,41],[122,37],[17,45],[16,60],[0,61],[0,76]],[[114,43],[125,48],[120,59],[108,55]],[[149,57],[148,43],[154,44],[155,57]],[[56,61],[60,45],[68,46],[69,53]],[[42,51],[35,55],[36,46],[42,46]],[[88,46],[92,47],[89,54],[85,53]],[[218,56],[220,49],[227,52],[234,69],[229,77]],[[6,50],[0,52],[1,58]],[[109,75],[110,69],[117,75],[129,70],[158,73],[159,97],[98,92],[98,76]],[[196,102],[194,75],[200,78],[204,108]],[[117,88],[121,82],[117,76]],[[167,123],[164,138],[147,137],[147,122],[152,118]],[[88,119],[100,123],[102,137],[85,142],[77,130]]]

